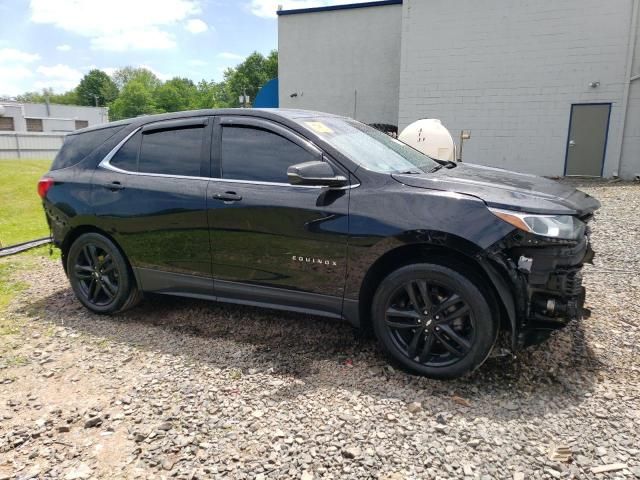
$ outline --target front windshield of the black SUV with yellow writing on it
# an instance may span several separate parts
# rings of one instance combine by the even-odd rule
[[[439,165],[409,145],[355,120],[325,117],[300,122],[367,170],[422,173]]]

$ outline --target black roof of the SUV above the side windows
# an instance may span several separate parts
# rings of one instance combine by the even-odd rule
[[[147,123],[160,122],[164,120],[175,120],[179,118],[199,117],[203,115],[244,115],[251,117],[267,118],[272,120],[287,119],[295,120],[298,118],[317,118],[317,117],[340,117],[332,113],[316,112],[313,110],[300,110],[294,108],[217,108],[217,109],[203,109],[203,110],[185,110],[182,112],[161,113],[157,115],[143,115],[135,118],[128,118],[125,120],[118,120],[116,122],[103,123],[100,125],[94,125],[91,127],[76,130],[69,135],[77,135],[80,133],[90,132],[94,130],[100,130],[103,128],[135,125],[142,126]]]

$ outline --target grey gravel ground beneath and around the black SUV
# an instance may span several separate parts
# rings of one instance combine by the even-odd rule
[[[640,186],[581,187],[592,317],[458,381],[342,323],[163,297],[99,317],[58,262],[17,270],[0,479],[640,478]]]

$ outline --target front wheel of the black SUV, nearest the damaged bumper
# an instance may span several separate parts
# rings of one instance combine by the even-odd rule
[[[490,305],[493,299],[470,278],[420,263],[382,281],[371,313],[382,349],[401,367],[450,379],[475,370],[491,353],[499,319]]]

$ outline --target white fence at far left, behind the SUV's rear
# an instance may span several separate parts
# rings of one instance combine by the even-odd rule
[[[51,160],[60,150],[64,137],[64,133],[0,132],[0,160]]]

